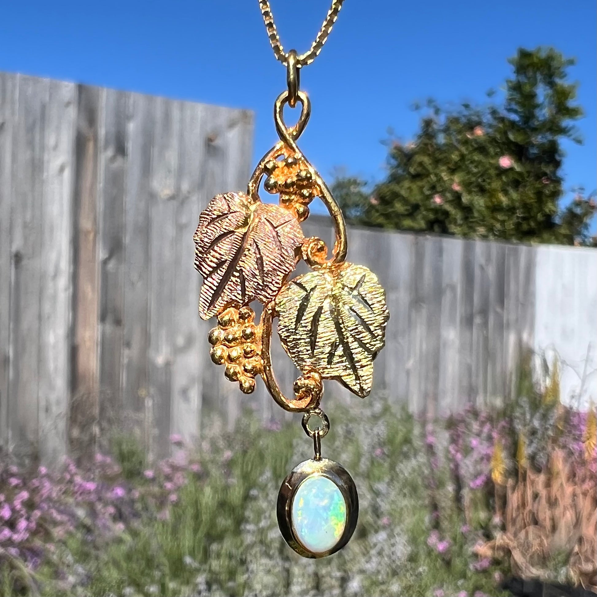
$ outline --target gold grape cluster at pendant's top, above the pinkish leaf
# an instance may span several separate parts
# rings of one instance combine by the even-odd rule
[[[268,193],[279,193],[280,203],[294,210],[298,221],[309,216],[307,205],[321,192],[303,158],[270,159],[263,167],[269,176],[263,183]]]

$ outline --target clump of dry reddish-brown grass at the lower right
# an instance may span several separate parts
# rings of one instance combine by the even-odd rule
[[[568,579],[597,592],[597,488],[589,467],[554,449],[544,470],[519,469],[505,490],[496,484],[505,530],[476,554],[509,556],[513,574],[525,579],[547,579],[554,561],[566,561]]]

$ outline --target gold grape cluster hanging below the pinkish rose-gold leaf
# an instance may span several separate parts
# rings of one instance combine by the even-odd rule
[[[255,389],[255,376],[263,371],[261,329],[254,324],[251,307],[228,307],[218,316],[217,327],[210,330],[210,356],[216,365],[226,364],[224,375],[238,381],[241,391],[250,394]]]

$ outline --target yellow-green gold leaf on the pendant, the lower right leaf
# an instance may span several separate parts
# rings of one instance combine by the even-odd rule
[[[389,318],[374,273],[341,263],[298,276],[276,297],[276,312],[282,346],[298,369],[368,395]]]

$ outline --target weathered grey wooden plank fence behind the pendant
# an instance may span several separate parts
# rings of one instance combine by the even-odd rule
[[[157,456],[246,404],[285,416],[224,380],[197,313],[199,211],[245,188],[252,131],[245,110],[0,74],[0,449],[52,463],[118,427]],[[332,238],[325,217],[304,232]],[[525,348],[558,352],[565,396],[597,397],[597,251],[361,229],[349,247],[390,309],[369,400],[501,399]]]

